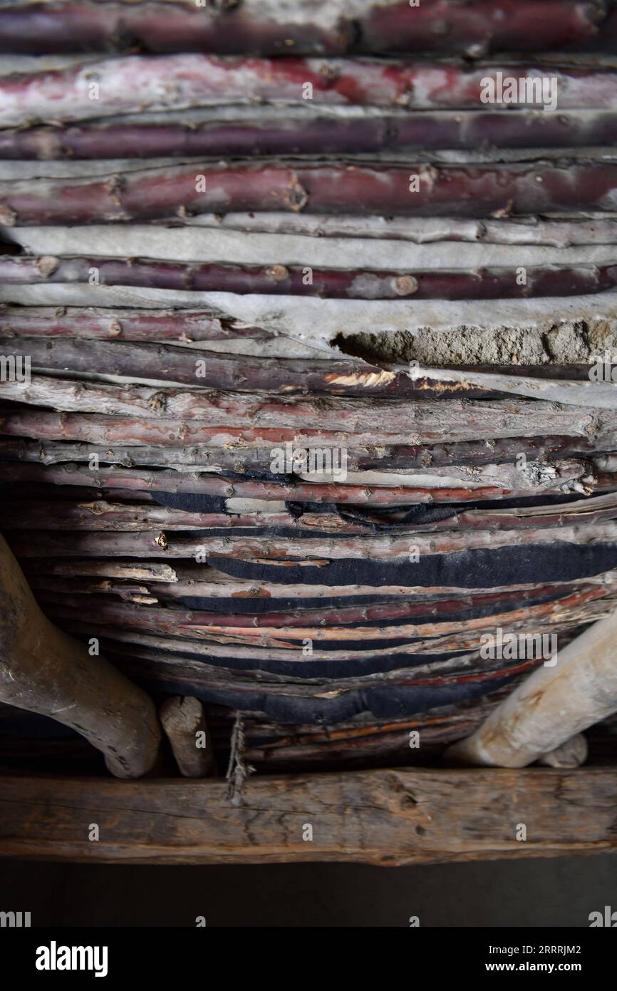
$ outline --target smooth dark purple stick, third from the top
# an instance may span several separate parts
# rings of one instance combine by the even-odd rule
[[[429,113],[365,120],[306,122],[289,114],[274,124],[84,123],[6,128],[0,157],[16,159],[155,159],[179,156],[324,155],[414,152],[422,149],[598,148],[617,143],[617,113],[536,111]]]

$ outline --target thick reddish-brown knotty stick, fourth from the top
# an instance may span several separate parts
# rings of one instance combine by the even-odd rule
[[[488,217],[613,211],[617,165],[268,163],[190,169],[184,165],[95,180],[3,182],[0,193],[0,219],[8,226],[149,220],[239,210]]]

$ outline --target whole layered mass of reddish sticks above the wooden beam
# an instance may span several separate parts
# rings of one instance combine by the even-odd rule
[[[221,749],[426,756],[547,659],[486,637],[614,609],[616,39],[601,0],[0,9],[2,530]]]

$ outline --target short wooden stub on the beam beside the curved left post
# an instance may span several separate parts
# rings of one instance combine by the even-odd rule
[[[193,696],[172,696],[159,711],[180,774],[185,778],[216,777],[216,764],[203,706]]]

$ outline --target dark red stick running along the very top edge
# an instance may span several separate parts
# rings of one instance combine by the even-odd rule
[[[293,13],[290,13],[292,11]],[[344,55],[348,52],[554,52],[595,43],[613,51],[606,0],[244,0],[196,7],[171,3],[16,0],[0,9],[0,52],[216,52]]]

